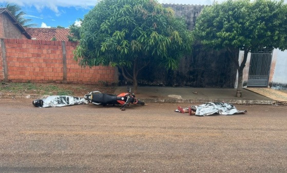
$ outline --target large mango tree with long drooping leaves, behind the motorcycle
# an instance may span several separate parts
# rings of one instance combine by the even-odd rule
[[[150,63],[178,68],[190,53],[192,32],[171,8],[156,0],[103,0],[85,15],[74,51],[82,66],[111,65],[137,90],[137,76]]]

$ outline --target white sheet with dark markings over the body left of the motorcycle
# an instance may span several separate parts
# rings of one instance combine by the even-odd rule
[[[43,107],[63,107],[70,105],[88,104],[84,98],[70,95],[51,95],[43,100]]]

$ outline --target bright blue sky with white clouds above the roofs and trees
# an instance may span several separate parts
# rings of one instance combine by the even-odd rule
[[[222,1],[217,0],[217,2]],[[213,0],[158,0],[158,2],[211,5]],[[68,28],[74,23],[79,25],[79,18],[83,19],[84,15],[97,4],[97,0],[0,0],[0,6],[5,6],[6,3],[19,5],[26,13],[25,18],[32,19],[30,24],[36,24],[36,27],[62,26]]]

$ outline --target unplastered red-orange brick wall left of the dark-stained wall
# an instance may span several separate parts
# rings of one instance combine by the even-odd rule
[[[12,82],[67,82],[79,84],[114,83],[113,67],[81,68],[73,60],[76,43],[65,42],[67,80],[63,81],[63,50],[61,41],[5,39],[8,80]],[[0,58],[2,60],[2,58]],[[0,80],[3,64],[0,61]],[[2,70],[3,71],[3,70]]]

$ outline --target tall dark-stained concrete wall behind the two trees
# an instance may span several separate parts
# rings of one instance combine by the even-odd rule
[[[202,5],[163,6],[173,8],[177,16],[185,18],[189,30],[194,28],[196,18],[204,8]],[[196,44],[192,54],[180,61],[178,70],[167,71],[157,66],[149,66],[140,72],[138,79],[139,85],[234,88],[236,70],[225,50],[216,51]],[[125,84],[122,76],[120,81]]]

